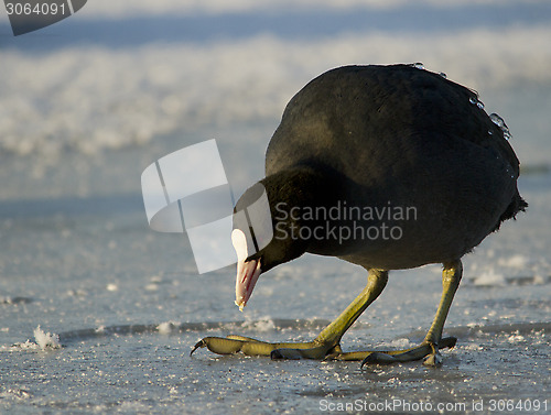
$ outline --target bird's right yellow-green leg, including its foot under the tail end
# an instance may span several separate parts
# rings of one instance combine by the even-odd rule
[[[442,363],[442,357],[439,349],[446,347],[454,347],[456,339],[454,337],[442,338],[442,330],[444,328],[444,323],[447,317],[447,312],[452,305],[453,297],[457,287],[460,286],[461,276],[463,273],[463,266],[460,260],[444,264],[444,270],[442,272],[442,299],[440,301],[439,309],[434,321],[429,329],[423,342],[415,348],[408,350],[395,350],[395,351],[383,351],[383,352],[365,352],[364,361],[361,365],[366,363],[392,363],[392,362],[406,362],[412,360],[420,360],[425,358],[424,364],[426,365],[440,365]],[[357,360],[361,352],[357,353],[344,353],[337,359],[342,360]],[[347,354],[350,354],[349,357]],[[350,358],[350,359],[348,359]],[[355,359],[352,359],[355,358]]]

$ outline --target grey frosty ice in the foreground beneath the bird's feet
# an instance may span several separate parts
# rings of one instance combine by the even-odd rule
[[[130,172],[136,151],[116,155]],[[20,160],[3,162],[2,170],[15,171]],[[414,362],[360,371],[359,362],[217,357],[203,349],[190,358],[204,336],[311,339],[357,295],[366,273],[336,259],[304,258],[266,274],[240,314],[234,267],[197,275],[184,237],[147,227],[138,193],[3,203],[0,407],[237,414],[316,413],[385,400],[536,405],[550,390],[550,238],[542,225],[551,214],[550,178],[523,177],[529,214],[465,258],[445,329],[458,342],[437,370]],[[392,273],[343,348],[413,346],[440,295],[436,265]],[[63,347],[43,340],[42,350],[33,334],[39,325]]]

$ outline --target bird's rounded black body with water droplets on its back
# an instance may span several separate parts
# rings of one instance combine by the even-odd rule
[[[291,99],[269,144],[271,205],[414,208],[386,223],[398,240],[313,240],[306,251],[386,270],[458,259],[526,206],[519,162],[480,107],[474,91],[410,65],[329,70]]]

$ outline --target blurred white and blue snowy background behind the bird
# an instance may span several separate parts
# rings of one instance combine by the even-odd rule
[[[0,15],[0,157],[21,161],[2,199],[134,192],[149,162],[212,138],[240,190],[289,99],[348,64],[443,72],[505,118],[526,166],[549,163],[547,0],[94,0],[18,37]]]

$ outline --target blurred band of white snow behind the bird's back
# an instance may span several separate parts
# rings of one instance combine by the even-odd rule
[[[45,55],[6,50],[0,150],[57,161],[67,150],[90,155],[149,145],[182,127],[278,119],[302,85],[345,64],[422,61],[484,99],[512,83],[550,83],[550,37],[549,25],[536,24],[437,36],[344,31],[296,42],[260,34],[206,45],[69,46]]]

